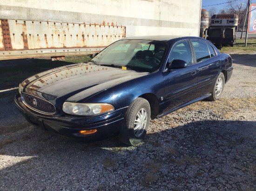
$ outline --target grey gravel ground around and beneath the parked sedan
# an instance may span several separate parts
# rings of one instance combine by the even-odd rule
[[[256,191],[256,55],[231,56],[221,100],[152,120],[135,147],[62,140],[0,96],[0,190]]]

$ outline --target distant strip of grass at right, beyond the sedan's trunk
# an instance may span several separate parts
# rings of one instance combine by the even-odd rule
[[[256,51],[256,38],[248,38],[247,40],[247,46],[245,47],[245,38],[240,39],[237,38],[236,39],[236,44],[234,45],[234,47],[222,47],[221,52],[230,52],[230,51]]]

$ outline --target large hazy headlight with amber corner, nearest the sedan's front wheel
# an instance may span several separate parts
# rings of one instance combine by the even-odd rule
[[[108,103],[64,102],[62,106],[63,112],[71,115],[99,115],[114,109],[114,106]]]

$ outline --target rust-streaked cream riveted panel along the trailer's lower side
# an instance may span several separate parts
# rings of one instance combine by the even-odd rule
[[[63,23],[61,22],[54,22],[54,21],[16,20],[16,23],[15,23],[15,19],[9,19],[9,23],[10,23],[10,30],[17,31],[17,33],[15,32],[14,34],[12,32],[11,34],[13,35],[12,44],[13,44],[13,47],[15,47],[14,49],[11,48],[11,50],[38,50],[42,48],[44,49],[98,48],[98,47],[100,48],[113,43],[114,40],[117,40],[119,38],[123,38],[126,36],[125,27],[115,26],[114,22],[111,22],[110,25],[113,28],[115,27],[115,30],[109,30],[109,27],[110,27],[109,23],[108,23],[108,26],[105,27],[106,25],[105,21],[103,21],[102,24],[96,24],[96,23],[84,24],[85,27],[81,27],[82,26],[81,23],[66,23],[66,25],[63,25]],[[22,25],[22,28],[21,28],[21,25]],[[92,25],[94,25],[94,27]],[[0,23],[0,27],[3,27],[2,23]],[[39,29],[37,29],[37,27]],[[70,27],[73,27],[73,28],[70,28]],[[67,33],[68,36],[67,35],[65,36],[65,33]],[[21,35],[21,38],[20,38],[20,35]],[[55,35],[58,35],[58,38],[55,37]],[[73,37],[74,35],[76,36],[76,38]],[[87,37],[85,37],[85,35]],[[35,38],[36,36],[37,38]],[[52,36],[52,38],[50,38],[50,36]],[[14,37],[15,37],[15,41],[13,40]],[[101,41],[101,37],[104,39],[104,41]],[[0,42],[2,40],[4,39],[0,39]],[[18,46],[20,44],[21,44],[21,48]],[[16,46],[19,48],[16,48]],[[41,52],[39,51],[38,53],[41,53]]]

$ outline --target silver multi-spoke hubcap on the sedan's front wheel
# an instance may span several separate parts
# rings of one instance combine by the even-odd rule
[[[145,108],[141,108],[141,110],[137,113],[135,121],[134,121],[134,135],[135,137],[140,137],[146,126],[148,121],[148,113]]]

